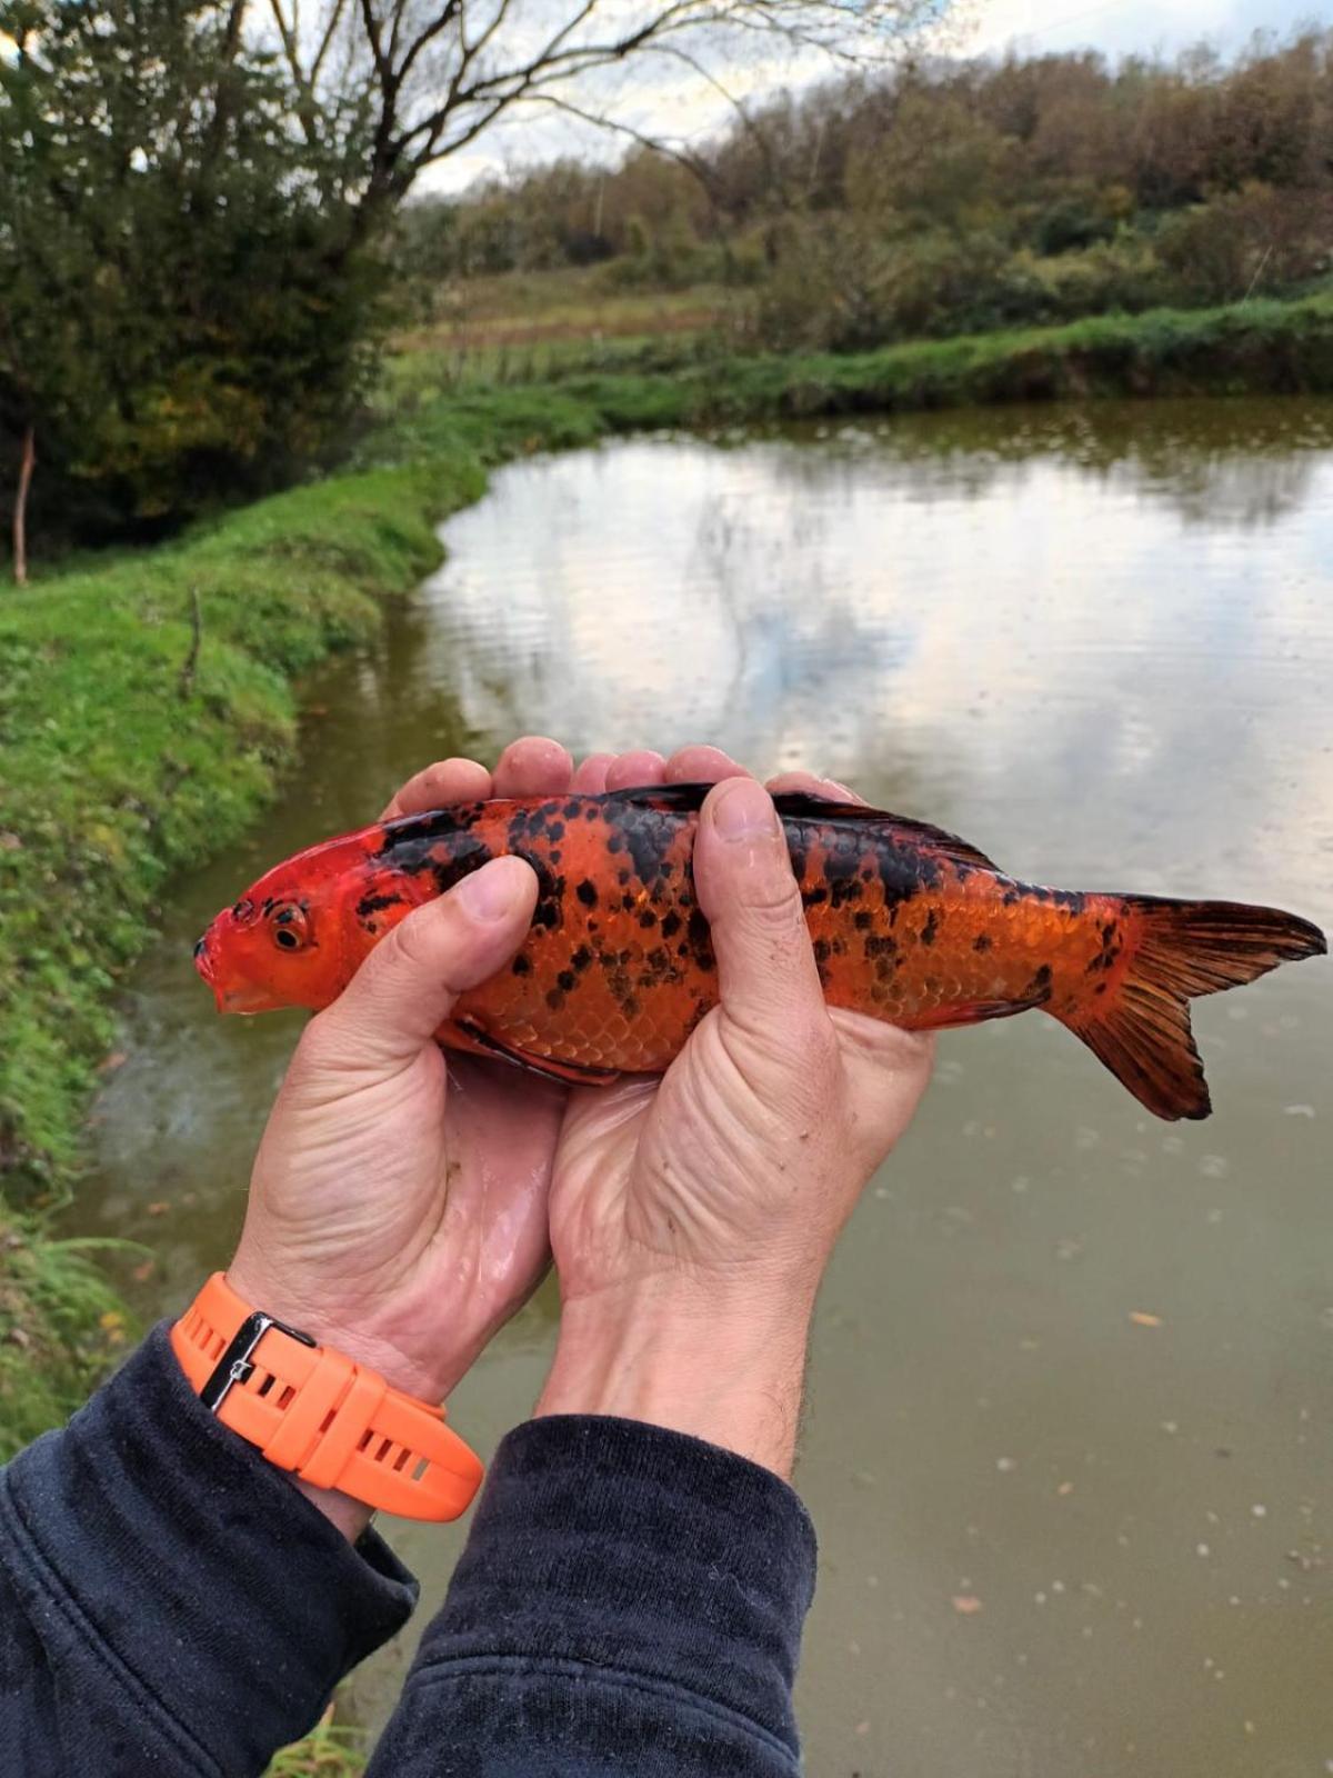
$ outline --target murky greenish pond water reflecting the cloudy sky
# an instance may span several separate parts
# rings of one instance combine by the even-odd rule
[[[523,464],[304,768],[181,882],[124,1005],[84,1227],[146,1307],[226,1261],[297,1031],[219,1021],[206,917],[526,729],[713,740],[958,829],[1029,878],[1333,925],[1333,409],[951,414]],[[1207,1003],[1212,1122],[1148,1118],[1045,1019],[956,1033],[828,1275],[798,1485],[821,1536],[816,1778],[1333,1771],[1333,969]],[[459,1390],[483,1451],[544,1293]],[[1152,1316],[1143,1325],[1132,1316]],[[395,1542],[443,1595],[459,1531]],[[405,1666],[357,1682],[377,1719]]]

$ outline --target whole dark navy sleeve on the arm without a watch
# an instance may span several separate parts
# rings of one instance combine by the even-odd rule
[[[814,1533],[777,1476],[635,1421],[501,1444],[371,1778],[794,1778]]]

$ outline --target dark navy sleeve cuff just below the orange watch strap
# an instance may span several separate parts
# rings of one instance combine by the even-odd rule
[[[199,1405],[167,1323],[0,1472],[0,1518],[50,1636],[71,1659],[92,1646],[206,1769],[252,1769],[304,1734],[416,1602],[379,1536],[352,1547]]]

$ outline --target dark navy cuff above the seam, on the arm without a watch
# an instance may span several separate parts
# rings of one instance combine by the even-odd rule
[[[512,1431],[419,1668],[567,1659],[686,1687],[796,1750],[814,1529],[771,1470],[640,1421]]]

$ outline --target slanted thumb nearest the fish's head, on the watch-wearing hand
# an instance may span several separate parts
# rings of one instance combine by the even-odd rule
[[[535,903],[531,866],[505,857],[418,907],[320,1013],[323,1042],[363,1065],[411,1061],[444,1024],[459,994],[503,969],[528,933]]]

